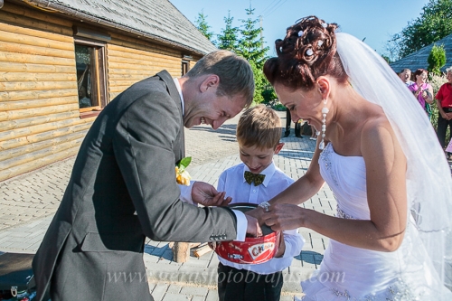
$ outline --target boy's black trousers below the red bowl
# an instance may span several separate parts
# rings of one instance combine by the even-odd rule
[[[279,301],[282,286],[282,272],[262,275],[218,265],[220,301]]]

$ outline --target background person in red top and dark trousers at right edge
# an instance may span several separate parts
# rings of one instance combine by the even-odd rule
[[[446,69],[447,82],[438,90],[435,99],[438,104],[438,129],[439,144],[446,146],[447,127],[452,131],[452,66]],[[451,152],[447,152],[447,159],[452,159]]]

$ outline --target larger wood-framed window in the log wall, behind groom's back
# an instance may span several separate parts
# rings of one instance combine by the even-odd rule
[[[104,44],[76,39],[75,62],[80,118],[96,116],[107,105]]]

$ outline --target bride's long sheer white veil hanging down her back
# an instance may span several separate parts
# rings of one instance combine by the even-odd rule
[[[411,223],[421,240],[406,242],[410,256],[418,257],[411,262],[432,263],[438,273],[433,277],[450,288],[452,177],[436,133],[418,100],[377,52],[347,33],[336,33],[336,39],[353,89],[383,108],[407,157],[408,208],[413,216],[407,229]]]

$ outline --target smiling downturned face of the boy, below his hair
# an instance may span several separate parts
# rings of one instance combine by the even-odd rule
[[[284,143],[278,143],[275,148],[259,148],[257,146],[241,146],[240,160],[250,168],[253,174],[259,174],[271,164],[273,155],[278,154]]]

